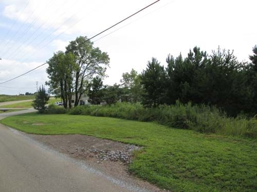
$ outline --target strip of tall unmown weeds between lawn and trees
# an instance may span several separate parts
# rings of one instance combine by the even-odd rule
[[[227,117],[215,106],[182,104],[159,105],[144,108],[140,103],[116,103],[113,105],[84,105],[69,111],[72,115],[114,117],[138,121],[156,121],[177,129],[190,129],[200,133],[257,138],[256,118]]]

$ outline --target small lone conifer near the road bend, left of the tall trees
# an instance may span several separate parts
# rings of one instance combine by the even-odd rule
[[[35,99],[32,102],[32,106],[35,110],[38,110],[39,113],[44,113],[46,111],[46,104],[49,100],[49,95],[47,94],[44,86],[39,88],[38,93],[35,95]]]

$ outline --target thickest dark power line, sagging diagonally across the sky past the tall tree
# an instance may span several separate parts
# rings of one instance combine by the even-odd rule
[[[134,15],[136,15],[136,14],[138,14],[139,12],[141,12],[141,11],[143,11],[143,10],[149,8],[150,6],[156,4],[156,3],[159,2],[159,1],[160,1],[160,0],[157,0],[157,1],[153,2],[152,4],[150,4],[150,5],[148,5],[148,6],[144,7],[144,8],[142,8],[142,9],[140,9],[139,11],[137,11],[137,12],[135,12],[135,13],[133,13],[132,15],[127,16],[126,18],[120,20],[120,22],[118,22],[118,23],[112,25],[111,27],[108,27],[107,29],[105,29],[105,30],[103,30],[103,31],[101,31],[101,32],[99,32],[99,33],[97,33],[97,34],[94,35],[93,37],[90,37],[89,39],[84,40],[84,41],[81,42],[79,45],[75,46],[74,48],[72,48],[72,49],[70,49],[70,50],[68,50],[68,51],[66,51],[66,52],[64,52],[64,53],[62,53],[62,54],[60,54],[60,55],[58,55],[58,57],[64,55],[64,54],[67,53],[67,52],[70,52],[70,51],[76,49],[77,47],[79,47],[79,46],[85,44],[85,42],[87,42],[87,41],[89,41],[89,40],[95,38],[96,36],[98,36],[98,35],[104,33],[105,31],[108,31],[108,30],[114,28],[115,26],[117,26],[117,25],[119,25],[120,23],[124,22],[124,21],[127,20],[128,18],[133,17]],[[38,68],[40,68],[40,67],[46,65],[46,64],[47,64],[49,61],[51,61],[51,60],[53,60],[53,59],[48,60],[47,62],[43,63],[42,65],[40,65],[40,66],[38,66],[38,67],[36,67],[36,68],[34,68],[34,69],[31,69],[31,70],[27,71],[26,73],[23,73],[23,74],[21,74],[21,75],[19,75],[19,76],[16,76],[16,77],[12,78],[12,79],[9,79],[9,80],[7,80],[7,81],[1,82],[0,84],[3,84],[3,83],[6,83],[6,82],[9,82],[9,81],[12,81],[12,80],[14,80],[14,79],[16,79],[16,78],[19,78],[19,77],[21,77],[21,76],[23,76],[23,75],[26,75],[26,74],[28,74],[28,73],[34,71],[35,69],[38,69]]]

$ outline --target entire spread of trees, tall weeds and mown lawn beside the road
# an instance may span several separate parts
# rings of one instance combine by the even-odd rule
[[[87,37],[70,41],[67,50],[49,59],[49,93],[42,86],[33,101],[44,115],[3,123],[33,134],[144,146],[129,170],[171,191],[257,190],[257,46],[250,62],[219,47],[211,54],[194,47],[185,58],[169,54],[166,67],[153,57],[141,73],[123,73],[113,86],[102,81],[108,54]],[[48,94],[62,98],[63,107],[46,109]],[[85,94],[93,105],[79,106]]]

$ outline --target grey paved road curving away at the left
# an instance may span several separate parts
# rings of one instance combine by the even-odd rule
[[[11,115],[30,110],[11,112]],[[0,114],[0,119],[8,113]],[[76,160],[0,124],[0,191],[131,191]],[[117,181],[116,181],[117,183]],[[133,189],[132,191],[135,191]]]

